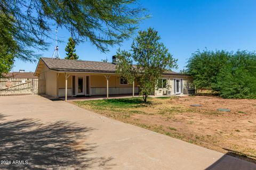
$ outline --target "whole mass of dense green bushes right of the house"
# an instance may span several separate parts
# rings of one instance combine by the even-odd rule
[[[198,50],[189,58],[187,71],[197,89],[216,91],[223,98],[256,98],[255,52]]]

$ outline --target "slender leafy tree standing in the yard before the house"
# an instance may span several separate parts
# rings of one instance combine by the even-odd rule
[[[116,55],[118,58],[117,72],[129,83],[134,80],[138,81],[140,94],[145,103],[148,95],[154,92],[162,74],[177,67],[177,60],[159,40],[161,37],[153,28],[139,31],[139,35],[132,43],[131,53],[118,49]]]

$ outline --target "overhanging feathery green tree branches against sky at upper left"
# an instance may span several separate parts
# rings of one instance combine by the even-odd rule
[[[38,50],[46,50],[47,39],[52,38],[54,25],[67,29],[77,43],[91,41],[102,52],[108,46],[120,44],[129,38],[138,23],[145,18],[145,9],[138,0],[2,0],[0,1],[0,36],[2,30],[12,35],[3,43],[15,40],[11,50],[15,57],[35,61]],[[1,56],[3,57],[3,56]]]

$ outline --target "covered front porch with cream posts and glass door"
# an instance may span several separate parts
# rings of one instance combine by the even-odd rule
[[[109,98],[115,95],[134,97],[139,93],[137,82],[127,83],[118,74],[57,73],[57,97],[65,99]]]

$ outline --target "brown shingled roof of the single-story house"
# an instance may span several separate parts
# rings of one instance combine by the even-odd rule
[[[106,62],[81,61],[81,60],[66,60],[52,59],[42,57],[42,61],[49,67],[50,70],[67,71],[67,72],[104,72],[115,73],[116,64]],[[166,71],[165,75],[181,75],[173,71]]]

